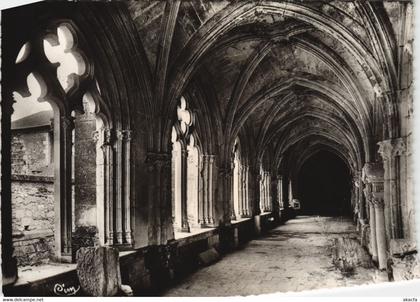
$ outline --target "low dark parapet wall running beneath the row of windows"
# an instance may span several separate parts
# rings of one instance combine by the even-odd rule
[[[275,226],[271,223],[272,215],[261,216],[261,232]],[[200,267],[207,264],[200,261],[201,254],[208,250],[217,250],[222,256],[238,248],[230,244],[228,248],[220,246],[220,240],[226,241],[236,234],[239,248],[249,240],[258,237],[254,230],[254,220],[245,219],[224,228],[209,229],[207,232],[177,239],[166,245],[152,245],[133,251],[120,252],[120,272],[122,284],[129,285],[135,296],[161,295],[168,287],[176,284]],[[236,231],[235,231],[236,230]],[[51,278],[39,279],[33,283],[3,288],[6,296],[52,296],[55,284],[79,286],[76,269],[57,274]],[[77,296],[86,296],[83,290]]]

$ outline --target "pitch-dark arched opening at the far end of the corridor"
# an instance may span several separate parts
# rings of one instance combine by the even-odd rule
[[[343,160],[319,151],[306,160],[298,174],[302,214],[351,215],[351,175]]]

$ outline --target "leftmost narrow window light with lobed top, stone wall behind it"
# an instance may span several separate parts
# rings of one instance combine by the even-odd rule
[[[53,112],[50,104],[37,101],[46,93],[43,79],[32,72],[26,84],[28,96],[13,93],[11,116],[12,241],[18,266],[48,261],[54,250],[54,166],[50,155]]]

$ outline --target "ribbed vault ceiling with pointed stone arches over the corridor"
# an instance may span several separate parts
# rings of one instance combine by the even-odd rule
[[[164,6],[129,4],[152,69]],[[394,114],[384,92],[396,86],[392,4],[387,10],[390,17],[383,3],[182,1],[166,97],[175,103],[203,86],[221,127],[212,141],[226,154],[239,136],[276,169],[298,170],[325,149],[360,170],[372,142],[398,131],[384,123]]]

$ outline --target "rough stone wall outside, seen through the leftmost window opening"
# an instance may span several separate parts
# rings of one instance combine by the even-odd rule
[[[54,251],[54,177],[49,128],[12,136],[12,228],[19,266],[46,263]]]

